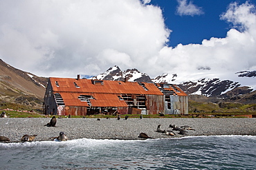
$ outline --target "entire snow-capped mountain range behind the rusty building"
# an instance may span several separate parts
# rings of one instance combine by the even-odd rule
[[[225,74],[162,74],[156,78],[150,78],[147,74],[139,72],[137,69],[128,69],[122,72],[115,65],[106,72],[93,76],[93,79],[147,82],[147,83],[171,83],[176,84],[187,94],[199,94],[208,97],[234,98],[235,96],[248,94],[256,89],[256,71],[243,71]],[[255,91],[254,91],[255,92]],[[256,93],[256,92],[255,92]],[[255,96],[250,98],[256,99]],[[254,99],[253,99],[254,100]]]

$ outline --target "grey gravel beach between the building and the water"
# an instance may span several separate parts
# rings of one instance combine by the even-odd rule
[[[256,118],[57,118],[56,127],[46,127],[51,118],[0,118],[0,136],[10,138],[10,142],[20,142],[24,134],[37,134],[35,141],[49,140],[63,131],[68,140],[77,138],[138,140],[141,132],[152,138],[173,138],[182,136],[213,135],[256,135]],[[172,130],[170,125],[188,125],[185,135],[166,136],[156,132]]]

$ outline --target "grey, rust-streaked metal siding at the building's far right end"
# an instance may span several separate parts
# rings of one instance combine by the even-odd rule
[[[188,96],[170,95],[171,108],[167,108],[165,102],[165,114],[188,114]]]

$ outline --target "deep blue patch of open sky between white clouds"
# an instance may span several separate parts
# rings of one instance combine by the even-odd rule
[[[163,11],[165,24],[172,30],[168,45],[175,47],[179,43],[201,43],[203,39],[211,37],[223,38],[230,29],[230,23],[220,19],[220,15],[226,11],[228,5],[234,1],[230,0],[194,0],[185,3],[192,3],[199,14],[179,14],[177,8],[179,3],[176,0],[152,0],[149,4],[159,6]],[[246,1],[239,0],[238,3]],[[250,1],[255,3],[256,1]],[[196,11],[195,11],[196,12]]]

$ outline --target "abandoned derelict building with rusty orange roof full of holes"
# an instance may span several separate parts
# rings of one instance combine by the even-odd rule
[[[188,95],[166,83],[49,78],[44,114],[188,114]]]

